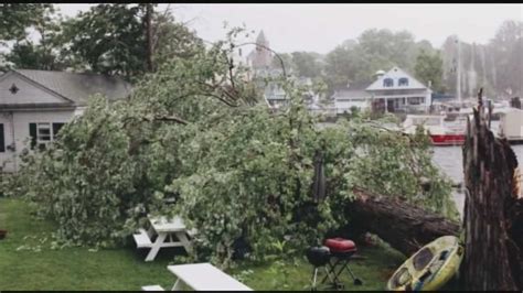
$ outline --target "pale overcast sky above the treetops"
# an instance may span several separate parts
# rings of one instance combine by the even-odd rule
[[[90,4],[57,4],[64,15],[75,15]],[[168,4],[159,4],[163,10]],[[523,4],[170,4],[178,20],[199,36],[225,36],[223,22],[264,30],[278,52],[328,53],[344,40],[372,28],[407,30],[416,41],[439,47],[457,34],[465,42],[487,43],[505,20],[523,21]]]

